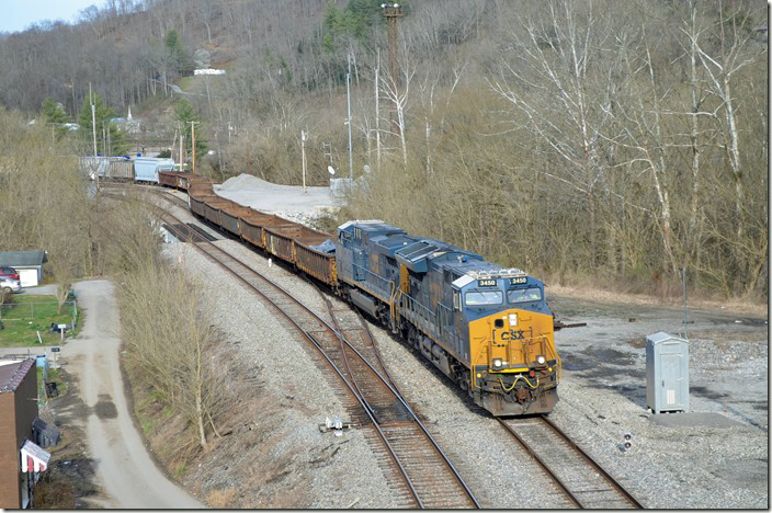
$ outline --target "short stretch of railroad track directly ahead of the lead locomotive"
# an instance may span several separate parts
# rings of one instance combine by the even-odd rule
[[[644,508],[545,417],[497,420],[555,482],[570,505],[603,510]]]

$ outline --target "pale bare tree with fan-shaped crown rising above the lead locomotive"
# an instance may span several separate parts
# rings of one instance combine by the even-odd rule
[[[598,246],[600,194],[609,193],[601,134],[618,92],[618,60],[610,58],[606,45],[612,5],[550,1],[544,15],[520,18],[506,53],[518,56],[515,61],[503,58],[497,76],[488,79],[491,90],[520,113],[509,130],[522,125],[545,141],[565,166],[565,179],[586,193],[591,248]]]

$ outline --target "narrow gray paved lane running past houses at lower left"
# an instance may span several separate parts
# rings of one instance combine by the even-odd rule
[[[78,339],[61,350],[67,371],[78,380],[88,407],[83,430],[96,479],[107,494],[104,508],[204,508],[169,481],[147,453],[129,415],[118,366],[118,315],[113,284],[90,281],[75,284],[86,323]]]

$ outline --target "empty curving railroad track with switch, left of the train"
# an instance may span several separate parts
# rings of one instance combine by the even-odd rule
[[[166,198],[167,194],[163,197]],[[344,392],[341,397],[347,398],[343,402],[352,424],[367,430],[365,433],[371,445],[381,448],[379,463],[393,475],[399,476],[397,480],[404,483],[401,488],[407,489],[407,493],[401,494],[406,506],[480,508],[450,459],[411,407],[394,388],[390,378],[381,374],[385,372],[385,367],[375,357],[374,351],[377,350],[366,323],[360,322],[359,329],[349,329],[347,333],[352,339],[359,333],[361,339],[356,345],[373,358],[373,364],[350,343],[347,334],[330,326],[288,292],[197,231],[179,230],[180,226],[185,225],[173,215],[163,213],[161,217],[175,237],[192,242],[209,260],[265,299],[280,318],[311,342],[339,378],[336,388],[337,391]],[[323,295],[322,297],[326,298]],[[332,319],[336,319],[334,312],[330,314]]]

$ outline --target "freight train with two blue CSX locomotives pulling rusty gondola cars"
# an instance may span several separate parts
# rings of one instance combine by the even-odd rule
[[[379,220],[334,236],[245,207],[184,172],[159,172],[191,212],[299,272],[400,335],[496,417],[548,413],[560,357],[544,284],[519,269]]]

